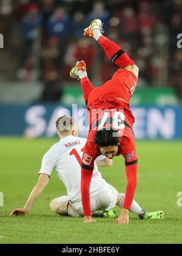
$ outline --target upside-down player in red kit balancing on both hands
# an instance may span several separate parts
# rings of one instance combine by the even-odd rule
[[[81,195],[84,223],[94,222],[90,209],[90,181],[94,161],[103,154],[112,159],[123,155],[126,165],[127,187],[121,215],[117,224],[129,223],[129,210],[133,201],[137,180],[137,157],[133,122],[129,108],[130,97],[138,81],[138,67],[120,46],[101,34],[102,22],[95,19],[84,30],[84,36],[94,38],[106,52],[107,57],[120,67],[111,80],[94,88],[87,78],[86,63],[77,61],[70,71],[72,78],[80,78],[84,99],[89,110],[90,131],[84,147],[81,163]]]

